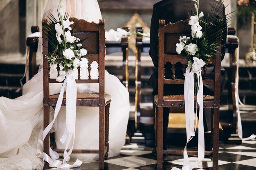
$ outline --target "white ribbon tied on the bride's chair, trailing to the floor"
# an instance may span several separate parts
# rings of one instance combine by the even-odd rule
[[[67,164],[67,161],[70,160],[70,154],[72,153],[73,146],[74,146],[74,139],[75,139],[75,127],[76,127],[76,80],[73,74],[73,71],[69,71],[68,73],[65,73],[63,75],[60,75],[56,79],[58,82],[63,82],[63,85],[61,87],[61,92],[58,97],[58,101],[55,107],[54,111],[54,119],[50,122],[50,124],[45,128],[43,132],[43,139],[45,139],[46,135],[51,130],[54,121],[56,120],[56,117],[58,116],[58,113],[61,109],[61,104],[63,101],[63,95],[64,95],[64,89],[66,88],[66,127],[65,132],[63,134],[63,137],[61,138],[61,141],[64,143],[66,142],[65,151],[63,155],[63,162],[57,160],[59,158],[59,155],[57,152],[53,151],[49,147],[49,155],[46,153],[43,153],[43,158],[45,161],[49,163],[50,167],[56,167],[56,168],[74,168],[79,167],[82,164],[82,161],[76,160],[76,162],[73,165]],[[72,146],[70,150],[67,152],[67,148],[70,144],[70,141],[73,139]]]

